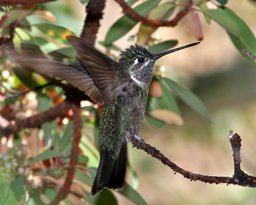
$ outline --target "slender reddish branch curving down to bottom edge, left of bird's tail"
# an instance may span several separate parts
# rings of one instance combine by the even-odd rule
[[[73,110],[73,119],[74,119],[74,137],[72,143],[72,150],[70,155],[70,161],[68,165],[68,173],[66,180],[63,186],[60,188],[59,193],[55,197],[55,199],[50,203],[50,205],[58,204],[61,200],[63,200],[69,192],[70,186],[72,185],[72,180],[74,178],[76,161],[79,154],[79,142],[81,138],[81,116],[80,116],[80,107],[76,104],[72,104]]]

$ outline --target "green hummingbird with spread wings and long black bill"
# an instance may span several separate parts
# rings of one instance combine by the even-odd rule
[[[58,59],[38,60],[36,54],[30,62],[38,62],[32,66],[34,71],[66,80],[95,103],[103,105],[98,137],[100,162],[91,195],[95,196],[103,188],[121,189],[126,172],[127,143],[133,138],[142,141],[139,131],[156,60],[199,42],[159,54],[135,44],[122,51],[116,62],[78,37],[66,36],[66,39],[78,55],[74,65]]]

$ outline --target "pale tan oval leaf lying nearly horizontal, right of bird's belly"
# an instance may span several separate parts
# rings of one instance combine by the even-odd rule
[[[183,119],[170,110],[156,109],[152,110],[148,114],[150,114],[153,118],[166,122],[169,125],[183,125]]]

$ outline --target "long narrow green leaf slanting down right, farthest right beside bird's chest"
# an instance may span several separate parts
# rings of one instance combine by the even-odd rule
[[[211,122],[210,114],[204,103],[194,93],[169,78],[164,78],[164,81],[168,86],[172,88],[176,95],[178,95],[180,99],[184,101],[184,103],[186,103],[192,109],[196,110],[198,113],[203,115],[204,118]]]

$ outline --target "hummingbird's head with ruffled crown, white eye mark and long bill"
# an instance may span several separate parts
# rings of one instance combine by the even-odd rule
[[[122,68],[127,69],[131,79],[138,86],[147,88],[152,80],[153,67],[158,58],[169,53],[197,45],[198,43],[199,42],[192,43],[159,54],[150,53],[144,47],[135,44],[135,46],[130,46],[130,49],[125,49],[125,51],[122,51],[121,58],[119,59],[118,63]]]

